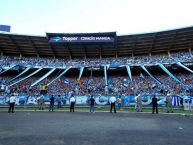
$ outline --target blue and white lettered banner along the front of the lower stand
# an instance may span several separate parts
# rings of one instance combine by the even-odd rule
[[[111,98],[111,96],[104,96],[104,95],[96,94],[93,97],[95,99],[96,105],[105,106],[105,105],[110,104],[109,99]],[[133,95],[116,96],[117,99],[118,99],[118,97],[122,98],[122,106],[135,106],[136,105],[136,99],[135,99],[135,96],[133,96]],[[142,95],[143,106],[151,106],[152,97],[153,97],[152,94],[143,94]],[[165,106],[166,96],[157,95],[156,97],[158,99],[159,106]],[[172,105],[174,107],[179,107],[180,106],[180,100],[183,99],[184,97],[188,97],[188,96],[173,95],[172,96]],[[38,105],[38,99],[39,98],[40,98],[39,96],[17,96],[15,104],[18,106]],[[58,96],[54,96],[54,98],[55,98],[54,105],[57,106],[58,105]],[[69,105],[70,104],[70,96],[69,95],[61,96],[61,98],[62,98],[61,105]],[[75,98],[76,98],[76,105],[85,105],[85,106],[89,105],[90,96],[87,96],[87,95],[75,96]],[[190,98],[190,104],[193,104],[193,97],[189,97],[189,98]],[[9,104],[9,97],[0,96],[0,106],[4,106],[4,105],[8,105],[8,104]],[[49,105],[49,104],[50,104],[50,96],[44,96],[44,105]]]

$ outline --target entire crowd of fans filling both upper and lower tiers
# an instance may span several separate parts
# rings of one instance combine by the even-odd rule
[[[41,66],[41,67],[65,67],[73,66],[100,66],[100,65],[125,65],[125,64],[155,64],[156,62],[161,63],[173,63],[176,61],[180,62],[192,62],[193,57],[189,52],[181,52],[171,54],[170,56],[143,56],[134,58],[105,58],[105,59],[48,59],[48,58],[15,58],[2,56],[0,59],[1,67],[10,65],[20,65],[20,66]],[[75,77],[61,77],[60,79],[54,81],[47,87],[48,95],[60,94],[60,95],[70,95],[74,93],[75,95],[86,95],[88,90],[92,90],[95,94],[109,95],[109,94],[122,94],[122,95],[135,95],[137,93],[164,93],[170,90],[174,94],[180,93],[190,93],[193,87],[193,75],[190,73],[186,74],[176,74],[178,79],[183,82],[179,84],[174,81],[170,76],[167,75],[156,75],[155,77],[162,83],[158,84],[150,76],[134,75],[133,81],[130,81],[128,76],[108,76],[108,85],[105,83],[104,76],[83,76],[80,80]],[[17,90],[20,95],[38,95],[40,94],[43,84],[48,84],[53,77],[48,77],[44,79],[39,84],[30,87],[30,85],[35,82],[38,77],[30,77],[21,83],[10,86],[9,80],[11,76],[0,76],[1,91],[11,92],[11,90]],[[17,81],[21,79],[14,80]],[[1,94],[2,95],[2,94]]]

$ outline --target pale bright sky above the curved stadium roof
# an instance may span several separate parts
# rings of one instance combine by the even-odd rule
[[[192,0],[1,0],[11,32],[148,33],[193,26]]]

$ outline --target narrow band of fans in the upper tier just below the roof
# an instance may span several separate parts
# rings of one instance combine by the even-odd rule
[[[152,56],[135,56],[135,57],[118,57],[118,58],[88,58],[88,59],[51,59],[51,58],[30,58],[30,57],[0,57],[0,68],[5,66],[20,65],[31,67],[80,67],[102,65],[140,65],[155,63],[174,63],[174,62],[192,62],[193,56],[189,52],[171,53],[170,55],[152,55]]]

